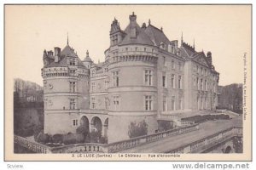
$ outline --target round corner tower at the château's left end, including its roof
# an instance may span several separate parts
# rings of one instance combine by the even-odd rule
[[[81,110],[89,109],[89,70],[68,43],[44,51],[44,133],[74,133]]]

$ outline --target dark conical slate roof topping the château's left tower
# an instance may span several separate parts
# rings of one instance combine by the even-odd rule
[[[60,57],[59,62],[53,61],[49,65],[47,65],[47,67],[68,66],[67,56],[77,57],[78,65],[84,67],[84,64],[82,63],[81,59],[79,59],[78,55],[74,53],[73,48],[71,48],[68,44],[65,48],[63,48],[61,50],[61,57]]]

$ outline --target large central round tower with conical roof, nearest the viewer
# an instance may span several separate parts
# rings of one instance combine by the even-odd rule
[[[126,37],[108,54],[108,143],[135,137],[133,127],[157,130],[157,50],[130,16]]]

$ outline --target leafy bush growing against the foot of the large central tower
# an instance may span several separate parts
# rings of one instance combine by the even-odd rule
[[[128,135],[130,138],[136,138],[148,134],[148,124],[143,120],[142,122],[131,122],[128,127]]]

